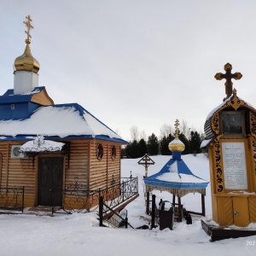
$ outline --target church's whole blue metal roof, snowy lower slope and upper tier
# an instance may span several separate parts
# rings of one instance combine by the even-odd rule
[[[15,95],[11,89],[0,96],[0,141],[31,140],[43,135],[45,139],[97,138],[127,143],[78,103],[40,106],[31,102],[32,96],[42,90],[44,86]]]

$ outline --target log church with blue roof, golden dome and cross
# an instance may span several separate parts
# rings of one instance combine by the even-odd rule
[[[79,104],[55,104],[38,86],[31,21],[26,16],[26,49],[15,59],[14,88],[0,96],[0,189],[24,187],[24,207],[50,206],[54,189],[61,207],[70,184],[90,191],[119,183],[126,142]],[[4,200],[0,196],[0,207]]]

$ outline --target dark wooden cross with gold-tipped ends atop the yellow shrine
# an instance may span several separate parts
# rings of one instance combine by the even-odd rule
[[[225,92],[226,92],[226,98],[229,98],[232,94],[232,81],[231,79],[236,79],[236,80],[239,80],[241,79],[242,77],[242,74],[239,73],[239,72],[236,72],[236,73],[231,73],[231,70],[232,70],[232,65],[230,63],[227,63],[225,66],[224,66],[224,71],[226,73],[217,73],[215,75],[215,79],[217,80],[221,80],[221,79],[226,79],[226,82],[225,82]]]

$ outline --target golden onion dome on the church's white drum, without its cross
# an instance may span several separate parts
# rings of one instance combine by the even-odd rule
[[[31,54],[31,49],[29,47],[30,40],[26,39],[25,42],[26,49],[23,55],[20,55],[15,60],[15,71],[29,71],[32,73],[38,73],[40,64]]]

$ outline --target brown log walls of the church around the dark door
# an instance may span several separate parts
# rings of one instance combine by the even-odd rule
[[[61,140],[60,140],[61,141]],[[63,140],[70,143],[70,159],[67,154],[39,154],[40,157],[64,157],[63,189],[68,189],[79,177],[79,189],[106,189],[120,180],[120,143],[100,140]],[[11,157],[12,145],[22,145],[26,141],[0,142],[0,185],[6,187],[25,186],[25,207],[37,206],[38,200],[38,156],[26,159]],[[102,160],[96,157],[96,147],[102,143]],[[112,157],[112,147],[116,155]]]

